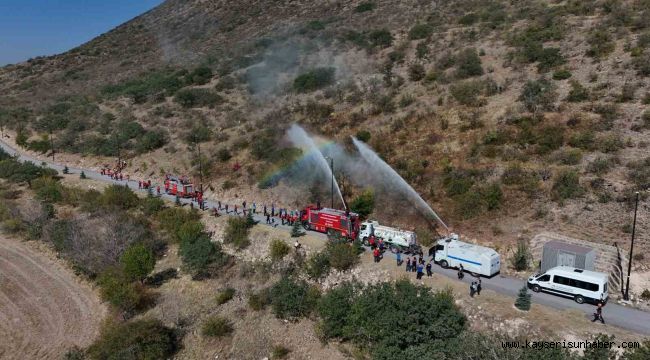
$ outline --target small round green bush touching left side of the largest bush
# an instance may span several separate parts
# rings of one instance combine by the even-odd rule
[[[282,278],[270,289],[273,313],[279,319],[308,316],[320,297],[317,288],[305,281]]]

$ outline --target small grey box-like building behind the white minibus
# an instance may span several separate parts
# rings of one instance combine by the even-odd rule
[[[545,272],[555,266],[571,266],[593,271],[595,260],[595,249],[551,240],[544,244],[540,270]]]

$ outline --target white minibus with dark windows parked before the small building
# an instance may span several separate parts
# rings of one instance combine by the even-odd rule
[[[577,269],[569,266],[556,266],[543,274],[528,278],[528,288],[534,292],[546,291],[573,298],[578,304],[585,301],[607,302],[607,274]]]

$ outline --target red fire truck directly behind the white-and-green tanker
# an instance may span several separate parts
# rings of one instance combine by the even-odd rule
[[[306,230],[340,235],[352,240],[359,234],[359,215],[345,210],[309,205],[300,212],[300,220]]]

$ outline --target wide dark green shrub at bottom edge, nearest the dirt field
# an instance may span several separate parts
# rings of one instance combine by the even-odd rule
[[[88,348],[90,359],[168,359],[179,349],[173,329],[160,320],[140,319],[104,326]]]

